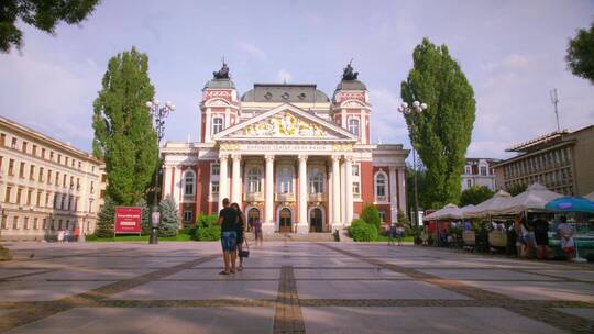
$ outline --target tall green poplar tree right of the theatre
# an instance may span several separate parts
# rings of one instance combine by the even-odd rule
[[[474,91],[446,45],[424,38],[413,53],[414,67],[402,82],[404,101],[427,103],[407,114],[410,140],[427,167],[429,205],[458,202],[464,156],[474,123]]]

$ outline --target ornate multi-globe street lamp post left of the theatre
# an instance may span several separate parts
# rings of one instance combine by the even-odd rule
[[[165,118],[169,115],[169,112],[175,110],[175,105],[172,103],[172,101],[167,101],[165,105],[161,107],[161,102],[157,99],[153,99],[153,101],[146,102],[146,108],[151,111],[151,115],[153,116],[153,121],[155,122],[155,132],[157,135],[157,162],[158,157],[161,157],[161,154],[158,152],[161,151],[161,140],[163,138],[163,135],[165,133]],[[161,220],[161,212],[158,211],[158,197],[157,197],[157,182],[158,182],[158,172],[155,170],[155,189],[154,189],[154,203],[153,203],[153,214],[151,214],[151,240],[148,241],[148,244],[157,244],[157,227],[158,222]]]

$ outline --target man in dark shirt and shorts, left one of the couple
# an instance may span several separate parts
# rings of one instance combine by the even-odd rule
[[[219,212],[217,225],[221,226],[221,245],[223,248],[224,270],[220,275],[235,272],[238,247],[238,211],[229,205],[229,199],[223,199],[223,209]]]

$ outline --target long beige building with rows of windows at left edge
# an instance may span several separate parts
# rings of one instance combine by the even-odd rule
[[[90,154],[0,118],[0,238],[53,240],[95,231],[105,165]]]

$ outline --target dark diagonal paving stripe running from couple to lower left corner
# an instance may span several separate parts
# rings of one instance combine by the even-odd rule
[[[94,307],[97,301],[103,300],[112,294],[130,290],[153,280],[162,279],[166,276],[215,259],[219,255],[205,256],[184,264],[175,265],[173,267],[119,280],[113,283],[92,289],[88,292],[66,297],[48,303],[35,304],[31,308],[19,309],[18,311],[9,314],[0,315],[0,333],[70,310],[73,308]]]

